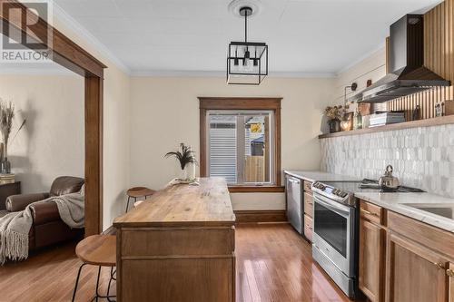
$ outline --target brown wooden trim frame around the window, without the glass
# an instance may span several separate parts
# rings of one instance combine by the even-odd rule
[[[229,185],[230,192],[283,192],[281,185],[281,100],[282,98],[229,98],[199,97],[200,102],[200,175],[206,177],[207,171],[207,125],[206,114],[210,110],[257,110],[274,113],[274,185],[247,186]]]

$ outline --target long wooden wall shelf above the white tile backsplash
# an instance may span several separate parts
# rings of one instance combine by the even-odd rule
[[[380,126],[380,127],[352,130],[350,132],[336,132],[336,133],[321,134],[321,135],[319,135],[319,139],[328,139],[331,137],[340,137],[340,136],[348,136],[348,135],[360,135],[360,134],[373,133],[373,132],[390,132],[393,130],[402,130],[402,129],[419,128],[419,127],[431,127],[431,126],[446,125],[446,124],[451,124],[451,123],[454,123],[454,115],[441,116],[441,117],[436,117],[436,118],[427,119],[427,120],[400,122],[400,123],[394,123],[394,124]]]

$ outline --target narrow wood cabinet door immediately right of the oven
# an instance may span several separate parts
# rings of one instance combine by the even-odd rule
[[[360,219],[360,289],[372,302],[383,301],[386,232]]]

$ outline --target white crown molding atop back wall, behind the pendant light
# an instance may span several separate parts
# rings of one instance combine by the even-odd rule
[[[131,72],[134,77],[217,77],[226,76],[223,71],[142,71]],[[275,72],[269,73],[271,78],[334,78],[336,73],[297,73]]]

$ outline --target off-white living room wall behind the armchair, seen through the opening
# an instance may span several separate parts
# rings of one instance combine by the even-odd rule
[[[0,98],[15,104],[8,160],[23,193],[49,191],[58,176],[84,177],[81,76],[1,74]]]

